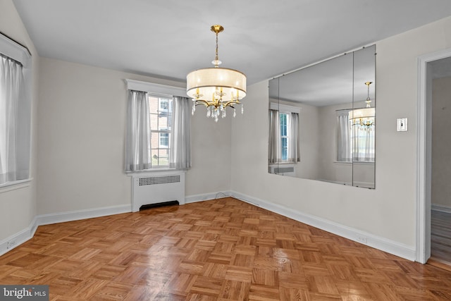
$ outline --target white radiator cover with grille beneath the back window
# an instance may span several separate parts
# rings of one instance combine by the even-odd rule
[[[152,176],[133,176],[132,211],[142,205],[178,201],[185,204],[185,173],[158,173]]]

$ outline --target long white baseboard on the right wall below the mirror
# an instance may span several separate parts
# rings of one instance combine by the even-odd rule
[[[409,259],[412,262],[415,261],[416,259],[415,249],[408,245],[404,245],[400,242],[395,242],[393,240],[381,238],[371,233],[366,233],[364,231],[358,231],[354,228],[343,226],[339,223],[334,223],[333,221],[321,219],[317,216],[312,216],[310,214],[304,214],[302,212],[290,209],[288,207],[283,207],[279,204],[273,204],[271,202],[266,202],[262,199],[250,197],[249,195],[243,195],[240,192],[230,192],[230,195],[235,197],[236,199],[242,200],[243,202],[248,202],[249,204],[253,204],[258,207],[264,208],[268,211],[272,211],[274,213],[289,217],[290,219],[294,219],[295,221],[300,221],[301,223],[306,223],[309,226],[319,228],[323,231],[339,235],[349,240],[354,240],[355,242],[362,243],[363,245],[374,247],[383,252],[388,252],[390,254],[394,254],[404,259]]]

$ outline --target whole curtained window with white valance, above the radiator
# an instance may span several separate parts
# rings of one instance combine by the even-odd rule
[[[180,87],[125,80],[125,173],[191,168],[190,99]]]

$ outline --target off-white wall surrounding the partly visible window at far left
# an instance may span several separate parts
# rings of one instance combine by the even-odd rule
[[[30,49],[32,54],[31,184],[18,190],[0,190],[0,242],[30,226],[36,214],[36,108],[39,57],[11,0],[0,0],[0,32]],[[0,250],[1,252],[1,250]]]

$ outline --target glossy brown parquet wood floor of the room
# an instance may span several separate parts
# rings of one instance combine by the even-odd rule
[[[39,226],[1,284],[50,300],[451,300],[451,272],[233,198]]]

